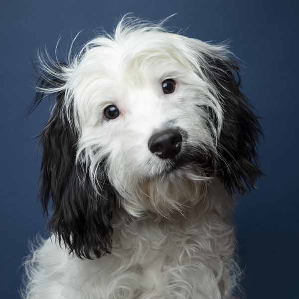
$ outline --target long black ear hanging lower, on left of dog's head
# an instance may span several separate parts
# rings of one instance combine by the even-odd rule
[[[59,65],[56,66],[59,69]],[[57,72],[57,70],[56,70]],[[47,74],[48,75],[48,74]],[[39,90],[53,90],[63,82],[49,76],[39,81]],[[92,259],[111,252],[112,209],[115,193],[104,176],[99,181],[99,195],[93,188],[89,176],[84,176],[82,165],[76,165],[78,134],[73,128],[73,116],[66,116],[64,92],[54,94],[55,105],[50,119],[41,132],[43,149],[41,164],[41,202],[44,212],[52,199],[52,215],[49,227],[61,241],[79,258]],[[39,92],[33,109],[45,97]],[[100,168],[100,167],[99,167]],[[80,179],[83,178],[84,179]]]

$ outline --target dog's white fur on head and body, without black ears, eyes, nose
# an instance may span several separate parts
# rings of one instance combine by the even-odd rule
[[[88,42],[63,73],[40,55],[43,69],[66,82],[41,91],[65,92],[64,109],[79,134],[77,162],[97,190],[98,167],[109,156],[108,178],[120,198],[112,253],[81,260],[52,235],[26,262],[24,299],[230,298],[239,274],[232,199],[196,165],[164,175],[170,162],[148,149],[152,133],[175,119],[190,146],[200,141],[216,151],[223,111],[203,71],[207,55],[226,59],[230,52],[131,18],[113,36]],[[177,82],[173,94],[162,93],[166,78]],[[119,118],[103,118],[109,104]],[[217,127],[200,106],[214,111]]]

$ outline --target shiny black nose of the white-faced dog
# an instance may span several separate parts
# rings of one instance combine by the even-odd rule
[[[182,136],[178,130],[169,129],[149,138],[149,150],[162,159],[173,158],[181,149]]]

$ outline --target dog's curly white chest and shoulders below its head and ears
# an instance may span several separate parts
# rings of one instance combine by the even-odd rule
[[[52,236],[28,260],[27,298],[224,298],[239,275],[227,200],[211,195],[171,220],[119,213],[112,253],[101,259],[68,255]]]

